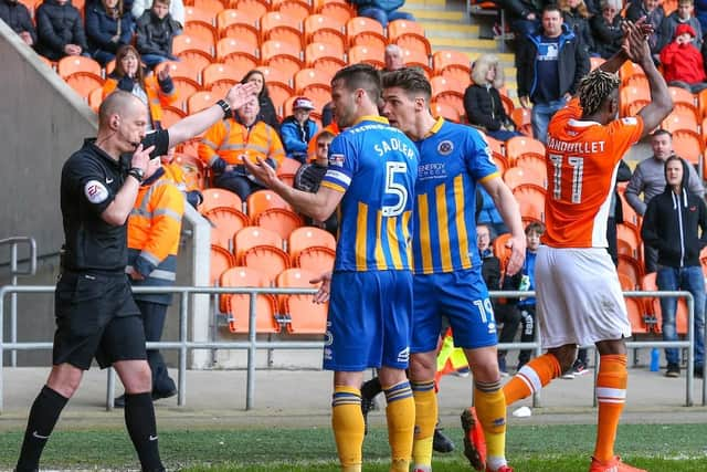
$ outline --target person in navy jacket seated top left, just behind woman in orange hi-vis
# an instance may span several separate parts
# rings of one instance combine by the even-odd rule
[[[115,53],[133,40],[135,24],[130,12],[123,11],[123,0],[103,0],[86,7],[88,52],[101,65],[115,59]]]

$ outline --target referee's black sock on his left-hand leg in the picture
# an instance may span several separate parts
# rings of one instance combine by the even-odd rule
[[[52,433],[59,416],[66,406],[68,398],[44,386],[36,396],[30,418],[27,421],[22,451],[18,460],[17,471],[35,471],[40,466],[40,457],[46,440]]]

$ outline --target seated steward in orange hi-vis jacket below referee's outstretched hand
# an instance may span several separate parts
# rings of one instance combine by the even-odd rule
[[[285,158],[277,132],[260,119],[257,98],[252,97],[232,117],[213,125],[199,144],[199,157],[214,175],[214,187],[238,193],[245,201],[247,196],[265,187],[243,166],[243,159],[256,162],[263,159],[272,168]]]

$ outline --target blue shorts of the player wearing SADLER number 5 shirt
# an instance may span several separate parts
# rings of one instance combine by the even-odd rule
[[[408,368],[411,272],[335,272],[330,296],[325,369]]]

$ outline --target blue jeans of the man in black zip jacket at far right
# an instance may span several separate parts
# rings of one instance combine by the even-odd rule
[[[658,290],[685,290],[695,298],[695,366],[701,366],[705,359],[705,279],[699,265],[674,269],[658,266],[656,276]],[[663,340],[677,340],[675,328],[675,313],[677,298],[661,298],[661,312],[663,314]],[[665,358],[668,364],[678,364],[679,354],[676,348],[665,349]]]

